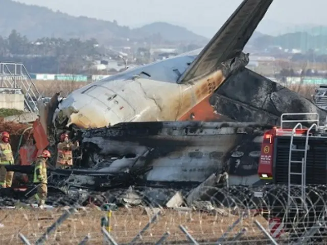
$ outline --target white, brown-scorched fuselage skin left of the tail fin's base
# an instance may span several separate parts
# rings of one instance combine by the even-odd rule
[[[176,120],[185,111],[182,103],[185,98],[192,101],[186,109],[198,103],[195,90],[203,84],[176,81],[200,51],[126,70],[77,89],[62,101],[54,118],[66,116],[68,125],[80,128],[100,128],[127,121]],[[72,108],[78,112],[71,114]]]

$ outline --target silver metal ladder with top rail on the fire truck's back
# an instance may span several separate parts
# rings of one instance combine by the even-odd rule
[[[315,119],[307,119],[307,120],[283,120],[284,116],[309,116],[315,117]],[[318,131],[319,128],[319,114],[318,113],[284,113],[281,116],[281,128],[283,128],[283,124],[285,123],[296,123],[291,132],[291,140],[290,140],[290,150],[289,150],[289,163],[288,163],[288,195],[287,195],[287,206],[291,207],[294,205],[294,201],[300,201],[300,206],[296,205],[296,209],[304,209],[306,205],[306,169],[307,169],[307,154],[310,150],[309,138],[312,135],[312,130]],[[312,122],[312,125],[307,129],[305,136],[305,147],[304,149],[296,149],[296,145],[293,144],[295,138],[303,138],[303,135],[296,134],[297,129],[303,129],[303,122]],[[301,161],[294,160],[293,153],[301,152],[303,154]],[[300,164],[301,171],[293,171],[296,166]],[[301,183],[292,183],[293,176],[301,176]],[[300,195],[298,195],[299,190],[297,189],[292,192],[292,187],[297,187],[300,189]],[[292,205],[293,204],[293,205]],[[292,209],[292,208],[291,208]]]

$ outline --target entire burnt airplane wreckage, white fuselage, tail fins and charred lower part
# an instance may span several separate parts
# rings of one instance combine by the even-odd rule
[[[44,110],[40,107],[54,156],[62,132],[82,142],[74,153],[78,169],[49,169],[58,176],[54,185],[62,180],[97,191],[132,183],[196,186],[224,172],[229,184],[259,184],[264,130],[287,112],[327,115],[245,68],[249,56],[243,48],[271,3],[244,0],[203,49],[128,69],[60,102],[56,94]],[[31,173],[32,167],[9,168]]]

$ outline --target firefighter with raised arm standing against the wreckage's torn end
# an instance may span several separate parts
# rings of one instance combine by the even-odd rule
[[[79,147],[79,142],[72,143],[67,134],[60,135],[60,143],[58,143],[58,155],[56,168],[68,168],[73,165],[73,152]]]

